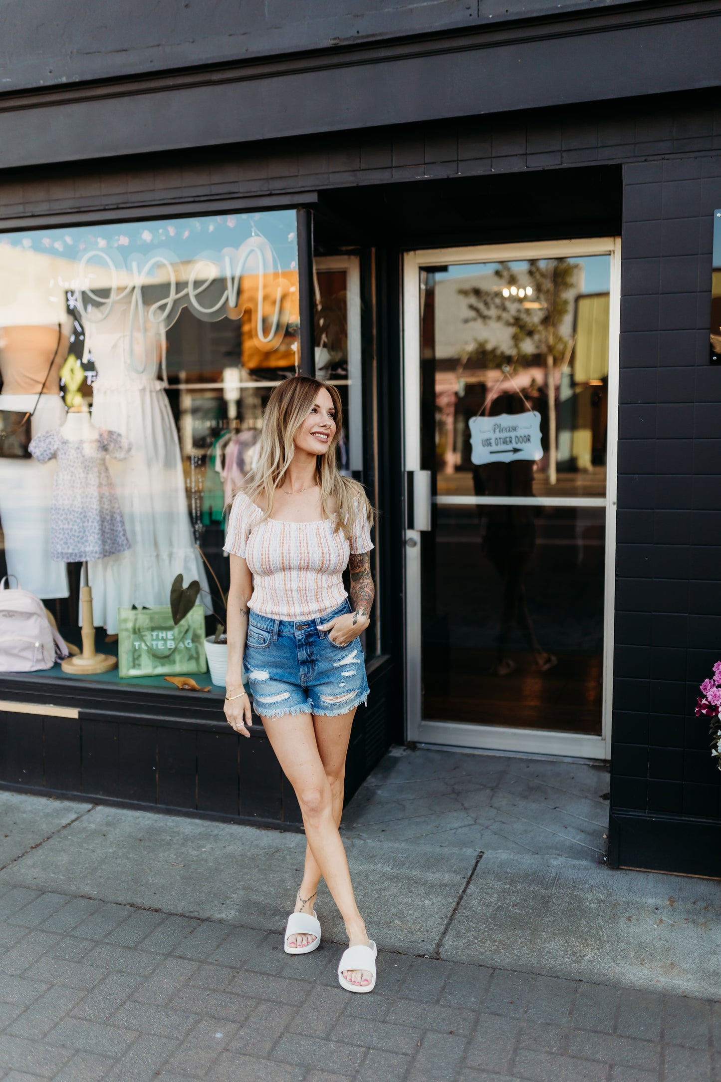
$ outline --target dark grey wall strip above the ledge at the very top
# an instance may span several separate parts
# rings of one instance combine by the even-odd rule
[[[632,0],[615,0],[613,6]],[[89,13],[85,0],[4,0],[4,90],[162,71],[278,53],[374,42],[506,23],[609,0],[118,0]]]

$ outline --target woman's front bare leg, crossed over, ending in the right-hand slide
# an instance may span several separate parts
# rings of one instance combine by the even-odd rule
[[[356,905],[346,850],[335,820],[331,783],[318,749],[313,720],[310,714],[262,720],[278,762],[295,790],[308,845],[341,910],[349,946],[366,947],[365,923]],[[360,979],[355,979],[357,974]],[[344,975],[353,984],[370,984],[371,975],[365,971]]]

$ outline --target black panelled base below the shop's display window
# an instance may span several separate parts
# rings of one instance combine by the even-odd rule
[[[98,641],[98,649],[109,646]],[[390,744],[391,670],[387,657],[368,665],[371,695],[353,722],[346,800]],[[157,676],[120,681],[117,670],[77,677],[56,665],[0,676],[0,788],[303,830],[257,716],[248,740],[225,721],[222,688],[178,691]]]

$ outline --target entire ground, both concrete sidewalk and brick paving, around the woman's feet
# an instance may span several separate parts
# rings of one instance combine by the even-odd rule
[[[718,884],[605,868],[606,786],[387,756],[344,817],[370,997],[326,895],[321,948],[282,951],[302,836],[2,793],[0,1072],[721,1082]]]

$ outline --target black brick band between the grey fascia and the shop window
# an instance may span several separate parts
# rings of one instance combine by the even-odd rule
[[[478,176],[721,151],[718,94],[529,109],[473,120],[266,141],[50,169],[0,171],[0,219],[292,196],[392,181]],[[583,183],[583,182],[582,182]],[[632,186],[636,188],[636,185]],[[640,198],[629,190],[629,199]],[[662,207],[656,192],[657,216]],[[683,199],[682,187],[668,199]],[[698,197],[700,198],[700,196]],[[650,209],[650,208],[646,208]],[[652,228],[652,227],[651,227]],[[679,226],[681,233],[683,226]]]

